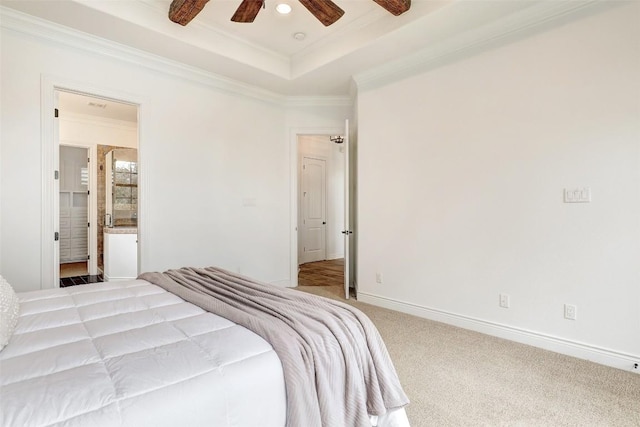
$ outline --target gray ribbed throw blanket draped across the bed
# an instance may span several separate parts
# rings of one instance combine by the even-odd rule
[[[371,426],[367,414],[409,403],[378,330],[354,307],[213,267],[139,278],[269,342],[284,371],[287,426]]]

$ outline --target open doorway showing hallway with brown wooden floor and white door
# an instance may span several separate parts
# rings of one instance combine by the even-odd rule
[[[298,135],[298,286],[344,297],[345,151],[329,134]]]

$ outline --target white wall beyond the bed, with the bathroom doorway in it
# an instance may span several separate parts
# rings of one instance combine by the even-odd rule
[[[155,64],[146,55],[137,61],[129,51],[124,59],[102,54],[104,43],[74,32],[62,41],[41,40],[29,28],[26,34],[7,29],[10,21],[15,26],[2,21],[0,42],[1,102],[11,105],[1,118],[0,271],[16,290],[53,285],[41,283],[40,271],[43,76],[142,100],[141,270],[217,265],[291,283],[289,130],[336,126],[345,108],[289,109],[218,90],[224,85],[201,73],[190,78],[184,67]],[[256,205],[243,206],[247,198]]]

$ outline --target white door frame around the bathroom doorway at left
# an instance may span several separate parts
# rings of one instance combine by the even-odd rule
[[[138,107],[138,156],[141,165],[138,173],[138,272],[143,271],[145,260],[142,258],[142,254],[144,254],[144,242],[147,241],[145,224],[148,224],[149,212],[146,196],[148,182],[143,160],[146,148],[143,105],[146,102],[139,95],[61,77],[42,75],[40,80],[40,140],[42,151],[40,288],[60,287],[60,245],[54,240],[54,234],[60,231],[59,181],[54,179],[54,174],[59,170],[60,152],[58,122],[54,117],[54,109],[58,106],[57,91],[108,99]]]

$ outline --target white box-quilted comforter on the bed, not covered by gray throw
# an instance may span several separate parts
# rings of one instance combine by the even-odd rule
[[[292,423],[291,397],[310,391],[285,380],[269,342],[148,280],[17,299],[0,351],[2,426],[345,425],[330,405]],[[373,411],[366,425],[408,426],[404,404]]]

